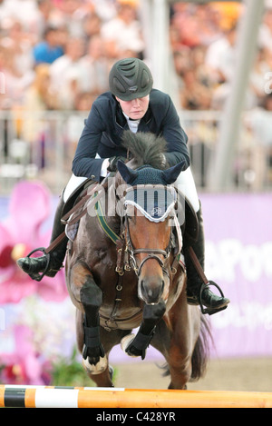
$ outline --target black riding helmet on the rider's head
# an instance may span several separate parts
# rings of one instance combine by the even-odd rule
[[[147,96],[153,85],[151,70],[141,59],[121,59],[112,66],[109,85],[112,94],[122,101]]]

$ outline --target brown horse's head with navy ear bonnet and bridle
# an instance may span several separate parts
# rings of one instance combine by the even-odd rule
[[[171,184],[182,168],[183,163],[179,163],[167,170],[149,165],[132,170],[118,163],[119,173],[129,185],[124,197],[127,251],[138,275],[139,297],[148,304],[168,299],[176,203]]]

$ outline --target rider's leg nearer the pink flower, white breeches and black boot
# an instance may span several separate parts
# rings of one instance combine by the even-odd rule
[[[65,225],[61,222],[63,216],[63,207],[65,203],[68,201],[70,195],[78,188],[81,183],[83,183],[86,178],[72,176],[70,181],[67,183],[66,188],[63,190],[63,193],[60,197],[60,201],[58,203],[54,220],[53,220],[53,231],[51,235],[50,243],[61,234],[65,229]],[[67,246],[67,237],[63,238],[63,241],[55,247],[55,249],[50,253],[50,263],[48,266],[48,270],[45,275],[49,277],[53,277],[63,266],[63,260],[66,253]],[[39,281],[39,272],[44,272],[47,265],[47,257],[45,255],[41,257],[24,257],[18,259],[18,266],[23,269],[24,272],[28,273],[31,278],[38,279]]]

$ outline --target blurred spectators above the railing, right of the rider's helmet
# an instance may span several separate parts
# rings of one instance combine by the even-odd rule
[[[170,41],[184,109],[222,109],[235,72],[238,23],[243,17],[243,7],[236,2],[173,5]],[[248,85],[247,109],[263,104],[267,94],[266,75],[271,71],[272,3],[269,6],[267,2]]]

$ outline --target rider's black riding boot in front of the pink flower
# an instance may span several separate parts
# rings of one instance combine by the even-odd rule
[[[53,231],[51,236],[51,242],[53,241],[61,234],[63,233],[65,229],[65,225],[61,223],[61,218],[63,216],[63,194],[60,198],[60,201],[58,203],[56,213],[54,215],[53,220]],[[40,273],[44,272],[45,268],[47,267],[48,263],[48,256],[50,256],[49,264],[45,275],[49,277],[54,277],[57,272],[63,267],[63,260],[66,253],[66,247],[67,247],[68,238],[65,236],[63,238],[63,241],[57,245],[53,252],[50,254],[47,254],[41,257],[23,257],[21,259],[18,259],[17,264],[18,266],[23,269],[24,272],[28,273],[28,275],[36,281],[41,281],[41,275]]]

